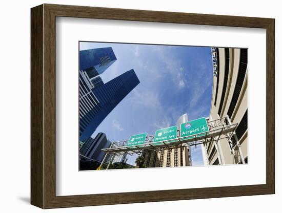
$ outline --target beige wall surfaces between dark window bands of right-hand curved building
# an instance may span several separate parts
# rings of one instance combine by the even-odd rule
[[[216,50],[216,49],[214,49]],[[229,52],[229,66],[228,66],[228,52]],[[246,52],[246,50],[244,50]],[[240,63],[241,66],[245,63],[245,52],[241,53],[240,49],[234,48],[218,48],[218,57],[219,63],[217,61],[217,75],[213,76],[213,92],[212,92],[212,101],[211,101],[211,111],[210,111],[210,120],[216,120],[221,117],[228,116],[228,111],[230,105],[233,104],[235,106],[233,113],[230,117],[232,123],[240,124],[239,128],[240,133],[242,130],[245,131],[244,124],[246,123],[246,117],[243,119],[247,109],[248,109],[248,90],[247,90],[247,76],[248,76],[248,66],[246,69],[245,78],[243,80],[243,85],[238,93],[238,90],[235,90],[237,83],[237,78],[239,72],[242,73],[242,70],[239,71]],[[242,54],[242,58],[240,57]],[[228,66],[228,67],[227,67]],[[243,66],[242,66],[243,67]],[[226,75],[228,72],[228,75]],[[228,76],[228,80],[225,87],[225,78]],[[241,76],[241,75],[240,75]],[[217,78],[218,78],[218,86],[217,86]],[[241,78],[240,78],[241,79]],[[238,79],[238,80],[240,80]],[[238,88],[238,87],[237,87]],[[217,92],[216,92],[217,90]],[[225,94],[224,94],[225,91]],[[236,102],[232,102],[233,94],[239,94]],[[216,98],[217,94],[217,98]],[[221,106],[220,106],[221,105]],[[220,109],[221,108],[221,112]],[[238,131],[239,131],[238,130]],[[241,158],[239,154],[239,149],[241,153],[243,153],[244,159],[247,161],[248,159],[248,137],[246,129],[243,136],[239,138],[239,147],[236,143],[229,142],[227,139],[221,139],[217,143],[207,143],[203,146],[206,155],[204,156],[208,164],[235,164],[241,163]],[[233,137],[233,141],[235,141]],[[232,145],[233,144],[233,145]]]

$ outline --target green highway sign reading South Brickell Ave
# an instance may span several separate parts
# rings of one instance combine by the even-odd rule
[[[164,129],[157,130],[154,137],[154,142],[162,142],[166,140],[176,139],[177,137],[177,126],[170,126]],[[168,141],[174,142],[175,140]],[[160,143],[154,143],[160,144]]]

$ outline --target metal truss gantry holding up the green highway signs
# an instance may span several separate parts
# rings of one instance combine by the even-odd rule
[[[172,148],[182,146],[197,146],[200,144],[217,142],[218,140],[227,138],[229,141],[236,130],[237,123],[229,122],[227,117],[218,118],[216,120],[209,121],[206,118],[209,131],[206,133],[198,133],[195,135],[180,138],[180,131],[177,131],[178,137],[176,139],[166,140],[163,142],[154,142],[154,135],[147,136],[145,143],[142,145],[127,146],[128,140],[113,142],[111,147],[103,148],[102,151],[108,154],[121,155],[121,154],[138,154],[140,155],[143,151],[153,150],[158,151],[159,148]],[[104,163],[104,160],[102,163]]]

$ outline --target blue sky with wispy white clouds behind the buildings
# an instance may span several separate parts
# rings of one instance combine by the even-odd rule
[[[97,127],[111,141],[131,135],[154,135],[157,129],[176,125],[179,116],[189,120],[208,117],[212,95],[211,48],[190,46],[80,42],[80,50],[112,47],[117,60],[100,77],[104,83],[134,69],[140,83]],[[136,155],[128,156],[135,164]],[[200,146],[192,148],[192,165],[202,165]]]

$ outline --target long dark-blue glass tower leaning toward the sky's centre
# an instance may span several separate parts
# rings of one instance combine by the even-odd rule
[[[87,140],[97,126],[107,117],[107,115],[122,101],[139,83],[134,70],[129,70],[122,75],[93,88],[91,91],[98,103],[95,105],[90,114],[79,119],[80,123],[85,125],[80,132],[80,141]],[[84,127],[84,126],[80,126]]]

